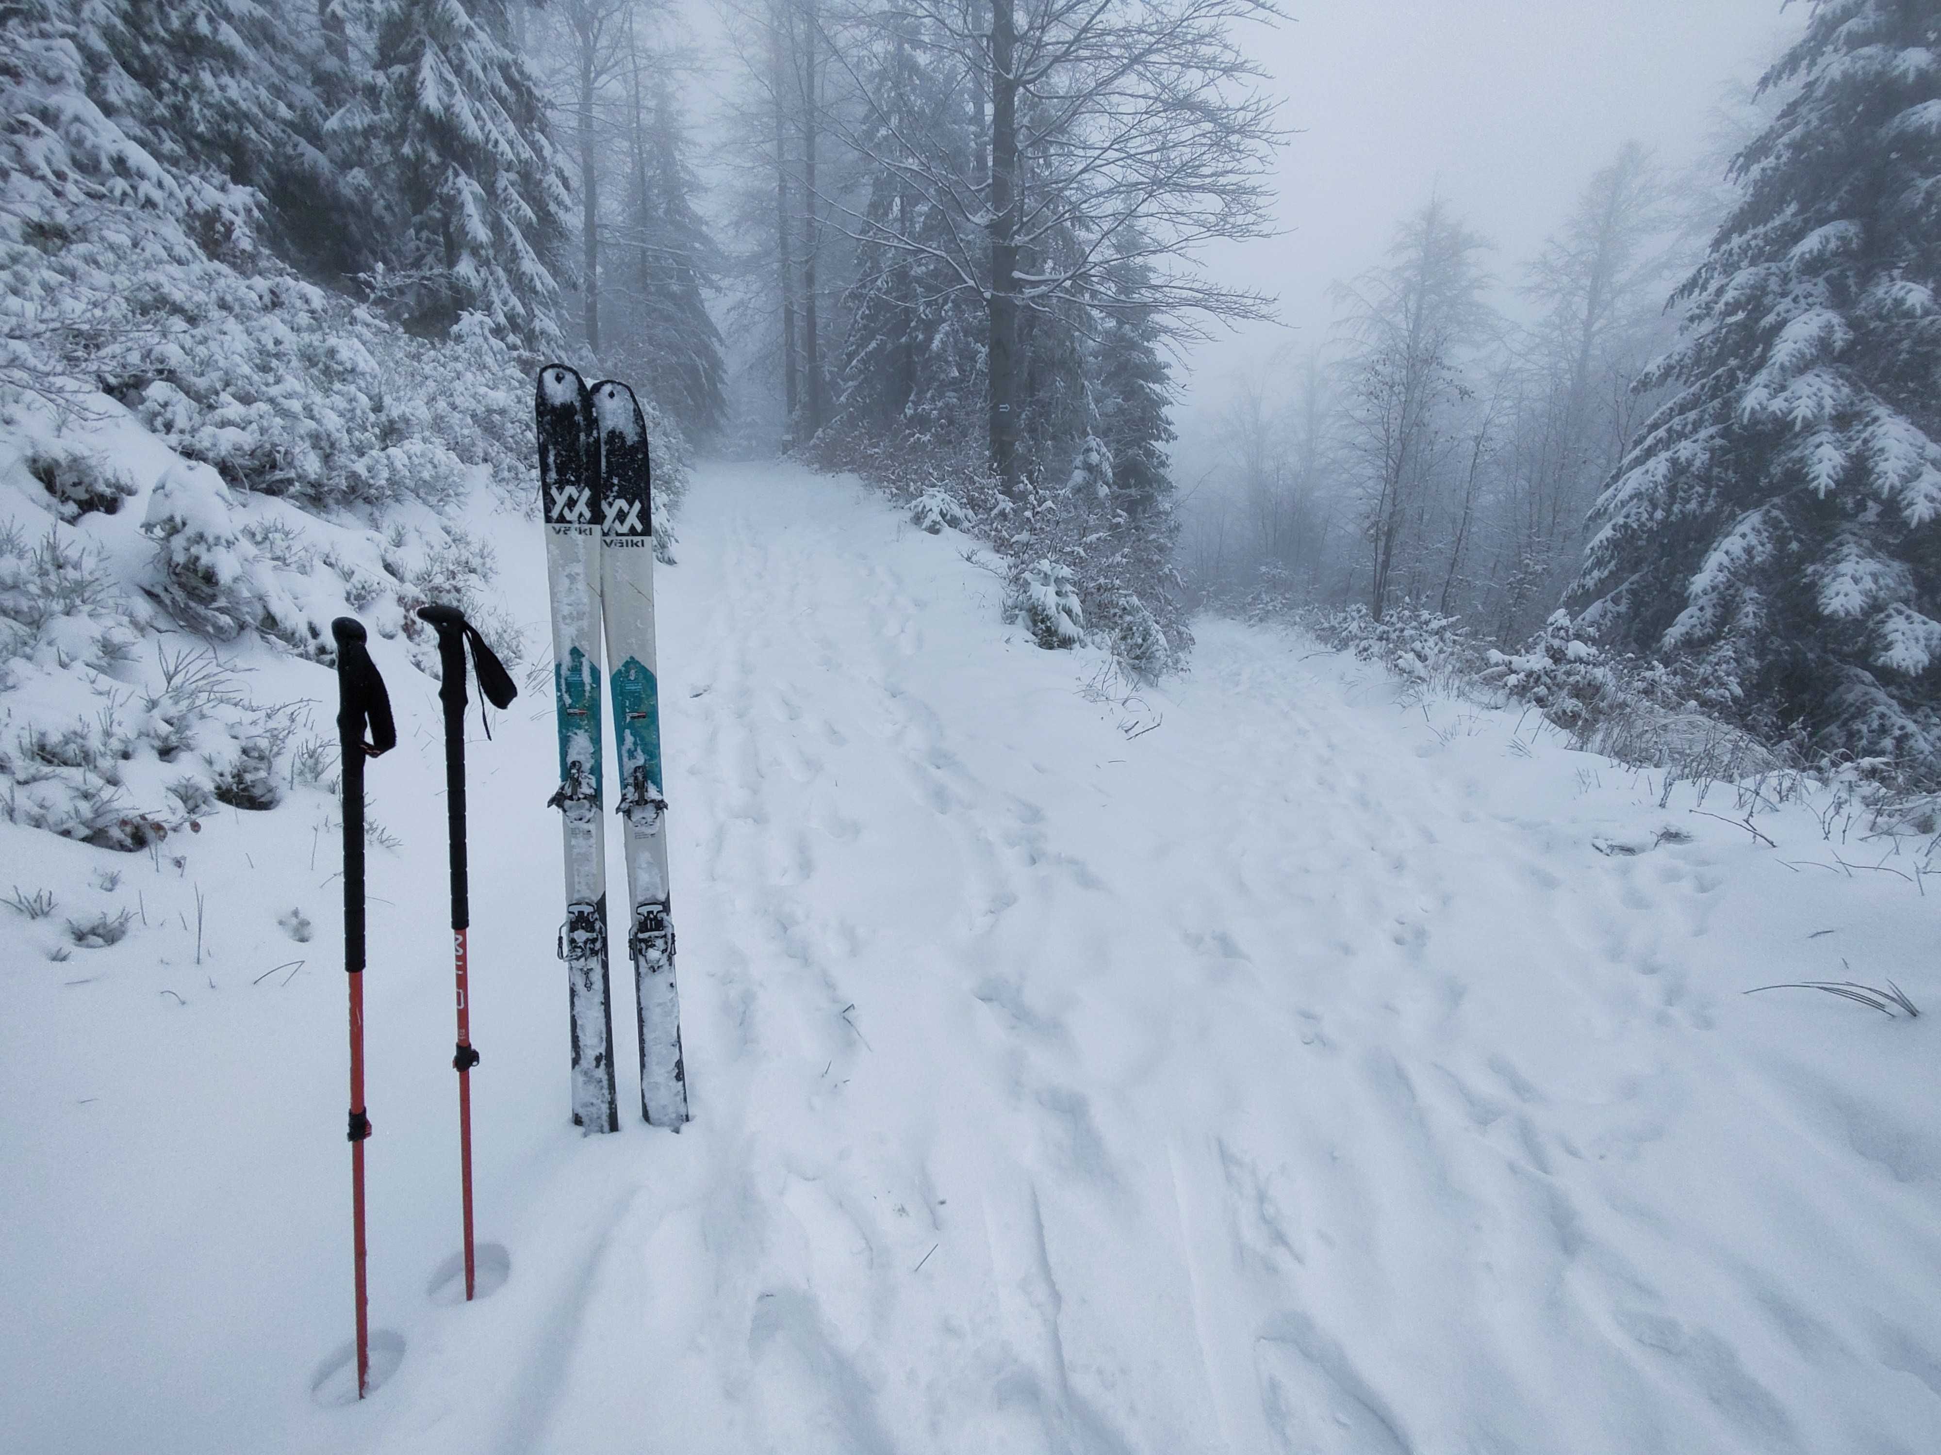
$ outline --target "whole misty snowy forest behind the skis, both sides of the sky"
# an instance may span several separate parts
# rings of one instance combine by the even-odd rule
[[[1326,227],[1271,184],[1300,146],[1248,39],[1271,0],[6,16],[0,384],[138,402],[245,489],[411,491],[334,454],[439,438],[338,438],[330,345],[295,384],[229,367],[235,320],[303,353],[309,310],[495,351],[456,435],[505,435],[468,384],[563,351],[644,386],[675,491],[693,448],[860,471],[996,547],[1042,646],[1137,677],[1188,669],[1198,609],[1322,613],[1561,722],[1941,760],[1931,6],[1815,0],[1698,165],[1623,146],[1531,256],[1423,198],[1225,402],[1190,493],[1196,349],[1277,314],[1209,244]]]

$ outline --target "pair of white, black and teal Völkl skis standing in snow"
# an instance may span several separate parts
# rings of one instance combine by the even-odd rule
[[[641,1018],[641,1116],[687,1121],[681,1011],[674,984],[668,896],[668,801],[662,795],[654,681],[654,516],[646,421],[633,390],[586,386],[567,365],[538,384],[540,512],[553,599],[553,700],[567,848],[567,962],[573,1011],[573,1121],[619,1131],[613,1013],[608,999],[602,685],[613,704],[619,759],[615,811],[627,857],[627,954]],[[611,671],[602,677],[602,638]]]

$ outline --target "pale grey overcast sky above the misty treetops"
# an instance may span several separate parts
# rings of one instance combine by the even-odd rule
[[[1300,128],[1279,165],[1289,231],[1209,264],[1279,295],[1295,328],[1198,349],[1182,415],[1275,347],[1318,341],[1330,283],[1374,264],[1432,188],[1497,244],[1493,272],[1512,277],[1625,140],[1689,163],[1726,83],[1757,78],[1807,6],[1287,0],[1287,10],[1289,21],[1250,45],[1285,97],[1287,124]]]

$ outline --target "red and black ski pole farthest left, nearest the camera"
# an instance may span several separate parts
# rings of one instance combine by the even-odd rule
[[[371,1117],[363,1104],[363,760],[398,745],[384,679],[365,650],[355,617],[330,623],[338,638],[338,743],[344,780],[344,970],[351,987],[351,1249],[357,1280],[357,1399],[371,1379],[371,1325],[365,1304],[363,1145]],[[365,726],[371,741],[365,741]]]

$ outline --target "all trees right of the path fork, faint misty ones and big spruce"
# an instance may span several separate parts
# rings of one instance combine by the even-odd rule
[[[1937,47],[1933,6],[1819,0],[1729,163],[1627,146],[1528,260],[1427,200],[1324,345],[1242,382],[1196,601],[1596,642],[1665,706],[1931,782]]]

